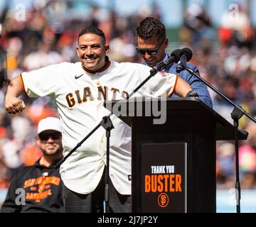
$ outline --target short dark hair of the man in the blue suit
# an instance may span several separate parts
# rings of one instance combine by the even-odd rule
[[[139,38],[147,40],[149,38],[157,37],[159,40],[166,38],[166,28],[164,23],[158,18],[149,16],[139,22],[139,26],[136,28]]]

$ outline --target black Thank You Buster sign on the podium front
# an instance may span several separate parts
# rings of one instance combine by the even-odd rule
[[[142,144],[142,212],[186,212],[186,143]]]

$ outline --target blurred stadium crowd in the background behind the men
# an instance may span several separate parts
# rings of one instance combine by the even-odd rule
[[[141,5],[130,13],[120,13],[120,2],[133,4],[121,0],[106,0],[102,4],[85,0],[1,0],[0,79],[12,79],[23,71],[58,62],[78,61],[78,33],[87,26],[97,26],[105,32],[111,60],[140,62],[135,50],[135,28],[142,18],[155,16],[166,22],[169,52],[191,48],[191,62],[199,68],[201,77],[249,114],[256,115],[256,20],[252,13],[256,1],[172,1],[180,9],[179,18],[175,7],[167,9],[166,16],[166,1],[141,0]],[[212,16],[213,6],[218,18]],[[173,21],[178,21],[176,26]],[[209,92],[213,109],[233,123],[233,106],[211,89]],[[50,99],[26,96],[26,110],[7,114],[5,93],[4,85],[0,89],[0,189],[9,186],[18,167],[33,165],[41,156],[35,143],[38,121],[58,116]],[[249,133],[246,141],[240,141],[241,188],[256,189],[256,124],[244,116],[240,129]],[[218,141],[216,154],[218,189],[235,187],[234,141]]]

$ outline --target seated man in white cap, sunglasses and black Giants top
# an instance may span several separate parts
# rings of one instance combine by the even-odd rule
[[[34,165],[21,167],[11,181],[1,213],[64,212],[63,185],[55,163],[63,157],[60,120],[38,123],[36,143],[43,156]]]

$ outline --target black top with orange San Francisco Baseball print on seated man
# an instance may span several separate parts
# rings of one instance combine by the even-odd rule
[[[45,167],[38,160],[21,167],[11,180],[1,213],[64,212],[63,185],[59,169],[53,167],[56,162]]]

